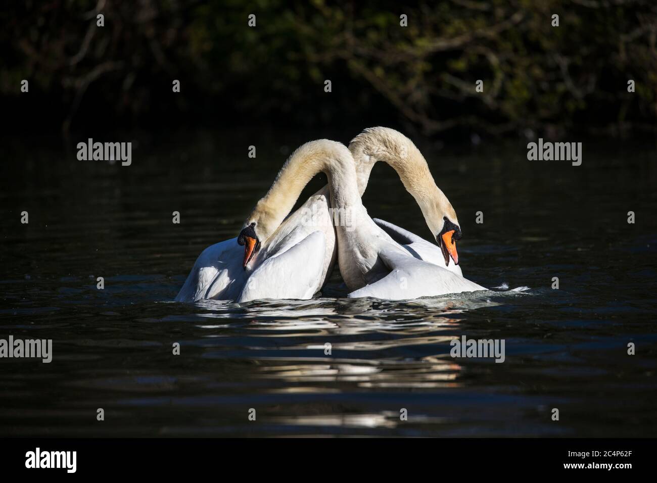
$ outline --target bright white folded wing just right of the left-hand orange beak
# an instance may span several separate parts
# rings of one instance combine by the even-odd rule
[[[323,282],[325,248],[325,235],[313,231],[288,250],[267,258],[248,277],[237,302],[312,298]]]

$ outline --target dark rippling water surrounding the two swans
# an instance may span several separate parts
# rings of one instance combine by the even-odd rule
[[[52,338],[53,362],[0,359],[1,435],[655,436],[654,145],[588,141],[579,167],[530,162],[524,141],[422,146],[466,277],[522,294],[347,300],[336,271],[304,302],[170,302],[304,141],[279,138],[139,137],[129,167],[3,143],[0,338]],[[430,235],[388,166],[364,202]],[[505,362],[449,357],[463,334],[505,339]]]

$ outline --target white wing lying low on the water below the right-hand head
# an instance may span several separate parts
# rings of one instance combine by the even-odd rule
[[[412,256],[384,249],[379,257],[390,273],[379,281],[351,292],[348,297],[374,297],[388,300],[474,292],[486,290],[455,273]],[[444,264],[444,262],[443,262]]]

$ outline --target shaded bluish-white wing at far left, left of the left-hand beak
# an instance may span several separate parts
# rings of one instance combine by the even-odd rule
[[[242,269],[244,247],[237,238],[208,246],[196,259],[176,302],[196,302],[206,298],[231,300],[244,285]]]

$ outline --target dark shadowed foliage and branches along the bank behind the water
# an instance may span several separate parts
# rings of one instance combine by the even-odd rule
[[[0,19],[0,95],[20,129],[394,124],[435,137],[654,135],[653,0],[11,4]]]

